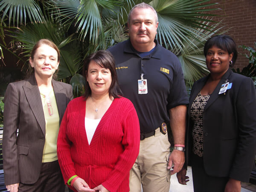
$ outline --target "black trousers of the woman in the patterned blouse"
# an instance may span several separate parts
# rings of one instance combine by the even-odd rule
[[[194,192],[224,192],[229,177],[213,177],[204,170],[203,157],[193,155],[192,175]]]

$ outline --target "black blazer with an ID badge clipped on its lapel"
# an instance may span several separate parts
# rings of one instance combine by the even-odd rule
[[[192,102],[209,76],[195,82],[188,106],[187,157],[192,153]],[[221,84],[232,83],[226,94]],[[208,175],[247,182],[256,152],[256,90],[251,78],[227,70],[203,113],[204,169]]]

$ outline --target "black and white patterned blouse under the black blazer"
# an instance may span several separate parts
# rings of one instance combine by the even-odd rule
[[[194,122],[194,126],[192,128],[193,152],[199,157],[203,157],[204,154],[203,112],[210,96],[211,95],[203,96],[200,91],[200,93],[195,97],[190,110],[190,116]]]

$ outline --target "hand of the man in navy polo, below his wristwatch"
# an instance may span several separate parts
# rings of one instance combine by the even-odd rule
[[[170,170],[170,174],[173,175],[177,172],[179,172],[183,164],[185,162],[185,154],[183,151],[173,150],[170,157],[167,169],[173,168],[173,170]],[[174,164],[174,167],[172,167],[172,164]]]

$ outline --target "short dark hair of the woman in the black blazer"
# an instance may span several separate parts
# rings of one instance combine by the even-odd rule
[[[220,49],[226,50],[228,54],[233,53],[233,58],[232,58],[232,65],[230,67],[233,67],[234,64],[236,63],[237,59],[237,49],[236,49],[236,43],[228,35],[216,35],[208,39],[208,41],[204,45],[204,56],[206,57],[208,50],[212,47],[216,46]]]

